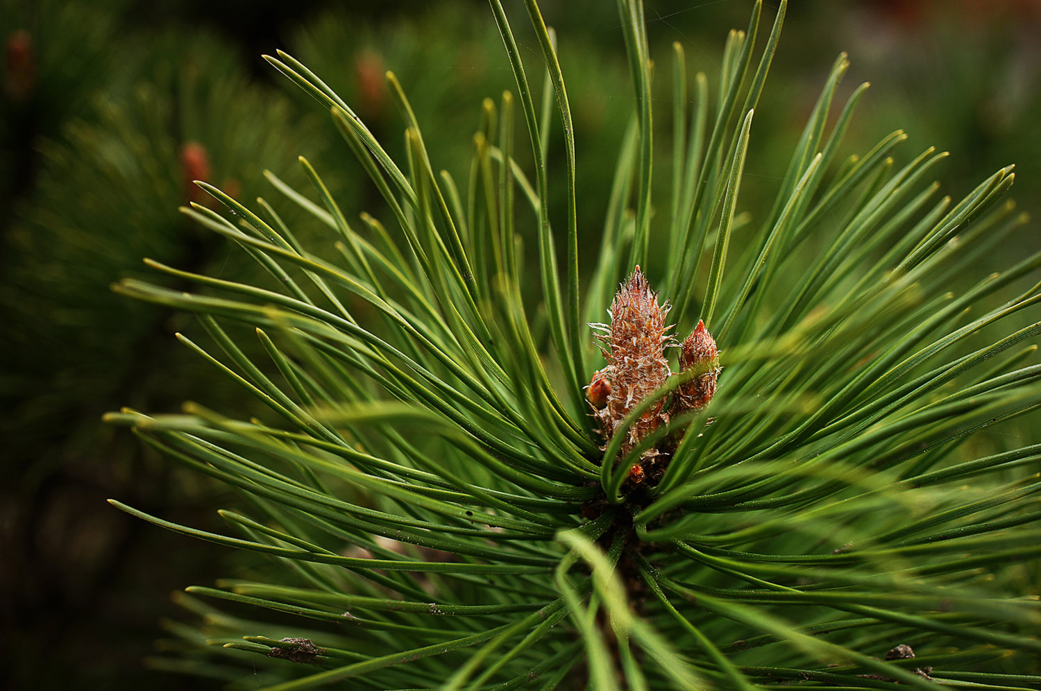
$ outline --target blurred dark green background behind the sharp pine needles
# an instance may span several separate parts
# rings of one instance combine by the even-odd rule
[[[529,74],[540,75],[523,3],[505,4]],[[663,154],[671,43],[683,44],[691,74],[711,76],[727,30],[746,25],[751,5],[645,0]],[[776,2],[765,5],[768,22]],[[575,114],[580,232],[595,246],[633,105],[615,3],[541,6],[560,36]],[[0,0],[0,688],[221,688],[217,672],[158,669],[163,652],[176,652],[171,593],[248,569],[250,558],[164,533],[105,498],[221,531],[214,509],[230,497],[100,417],[121,406],[173,411],[185,400],[253,404],[173,338],[194,333],[192,319],[108,285],[126,276],[164,280],[141,263],[145,256],[256,279],[242,253],[178,213],[187,201],[204,203],[188,184],[195,178],[248,204],[263,195],[278,206],[262,171],[303,182],[304,155],[349,216],[379,215],[378,193],[328,119],[261,53],[281,48],[310,66],[391,153],[401,150],[402,125],[383,74],[393,70],[434,164],[464,180],[481,99],[512,88],[500,39],[483,0]],[[872,82],[849,151],[904,129],[905,160],[929,146],[951,152],[940,178],[956,199],[1014,162],[1013,195],[1037,217],[1039,0],[791,0],[753,128],[744,206],[760,208],[775,189],[840,51],[853,67],[839,102]],[[525,146],[518,139],[518,151]],[[660,160],[657,199],[665,200],[667,155]],[[551,181],[561,180],[562,157],[553,163]],[[551,201],[558,226],[562,187]],[[278,208],[305,234],[318,232]],[[994,266],[1022,256],[1024,244],[1041,245],[1037,227]]]

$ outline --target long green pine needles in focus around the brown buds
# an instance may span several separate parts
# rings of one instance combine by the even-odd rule
[[[866,87],[833,107],[848,67],[840,56],[772,207],[737,213],[785,12],[782,2],[772,27],[761,25],[756,2],[747,30],[729,36],[715,98],[704,74],[688,93],[674,47],[672,191],[655,206],[642,6],[619,0],[636,107],[580,299],[575,130],[555,36],[526,0],[545,66],[539,101],[506,14],[490,4],[516,96],[484,101],[467,179],[435,173],[392,74],[403,161],[279,53],[268,60],[330,111],[382,195],[384,221],[352,224],[301,159],[306,195],[269,178],[328,226],[327,247],[302,247],[263,199],[251,209],[202,184],[225,213],[184,209],[252,256],[269,287],[154,261],[199,291],[116,286],[198,315],[219,352],[181,340],[268,410],[240,419],[189,403],[183,414],[107,415],[240,496],[238,510],[221,511],[234,536],[112,504],[270,564],[188,588],[179,599],[201,628],[169,623],[174,654],[153,666],[243,688],[262,673],[270,691],[342,680],[1041,687],[1041,603],[1030,594],[1041,444],[986,431],[1014,430],[1041,406],[1041,365],[1029,364],[1041,324],[1002,330],[1041,301],[1041,285],[1020,280],[1041,254],[950,292],[1025,222],[1001,201],[1011,169],[953,202],[926,177],[943,154],[894,162],[900,131],[839,159]],[[551,228],[548,132],[558,126],[566,179],[554,184],[569,195],[566,226]],[[528,171],[518,140],[530,145]],[[526,266],[531,236],[537,261]],[[670,301],[678,333],[704,323],[721,369],[709,405],[631,435],[707,373],[668,375],[666,363],[610,431],[598,425],[586,395],[605,361],[588,324],[637,265]],[[636,483],[651,458],[655,472]]]

